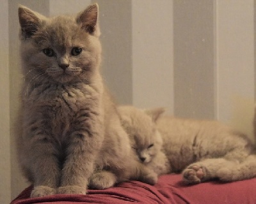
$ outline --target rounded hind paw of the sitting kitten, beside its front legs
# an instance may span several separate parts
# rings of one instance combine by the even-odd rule
[[[106,175],[101,173],[95,173],[90,179],[90,188],[91,189],[107,189],[113,187],[116,183],[115,176],[111,175],[106,177]]]

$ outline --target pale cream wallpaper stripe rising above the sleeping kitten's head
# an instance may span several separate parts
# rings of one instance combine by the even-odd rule
[[[173,1],[132,1],[133,105],[173,112]]]

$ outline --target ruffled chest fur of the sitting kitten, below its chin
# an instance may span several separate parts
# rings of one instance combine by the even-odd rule
[[[46,132],[61,142],[86,126],[93,105],[99,105],[99,94],[89,85],[38,85],[24,99],[24,115],[35,126],[33,135]]]

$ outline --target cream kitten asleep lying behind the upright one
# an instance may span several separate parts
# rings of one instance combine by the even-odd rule
[[[252,143],[220,122],[160,117],[163,108],[118,111],[138,159],[158,175],[182,171],[189,184],[256,176]]]

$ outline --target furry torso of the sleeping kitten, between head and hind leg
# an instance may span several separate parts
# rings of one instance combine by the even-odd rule
[[[242,133],[213,120],[164,116],[157,120],[157,129],[174,171],[200,159],[223,157],[234,148],[244,150],[251,146],[250,140]]]

